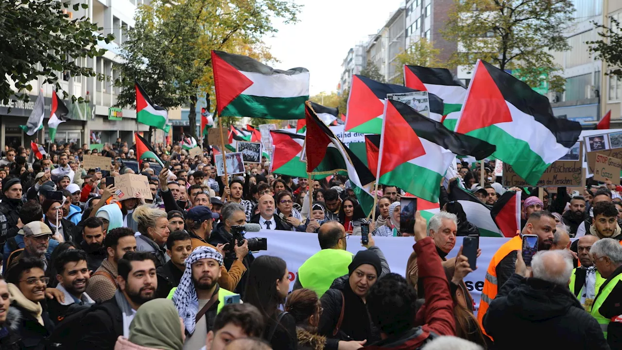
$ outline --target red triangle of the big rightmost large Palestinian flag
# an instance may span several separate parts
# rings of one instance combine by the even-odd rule
[[[509,121],[512,121],[512,115],[506,100],[480,60],[473,73],[456,132],[466,134]]]

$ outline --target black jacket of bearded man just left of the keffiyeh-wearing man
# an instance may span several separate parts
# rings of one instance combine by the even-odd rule
[[[109,350],[114,349],[114,343],[123,335],[123,313],[112,298],[101,305],[93,306],[82,323],[82,336],[77,339],[83,349]]]

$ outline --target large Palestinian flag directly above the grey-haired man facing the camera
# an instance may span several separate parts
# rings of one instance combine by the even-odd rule
[[[440,181],[456,154],[483,159],[493,151],[494,146],[488,143],[453,133],[404,103],[386,100],[378,183],[437,202]]]

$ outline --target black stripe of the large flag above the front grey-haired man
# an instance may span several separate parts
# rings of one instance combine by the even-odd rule
[[[438,144],[452,153],[459,156],[473,156],[480,160],[490,156],[497,149],[486,141],[450,131],[442,123],[426,118],[405,103],[394,100],[388,102],[402,115],[417,136]]]

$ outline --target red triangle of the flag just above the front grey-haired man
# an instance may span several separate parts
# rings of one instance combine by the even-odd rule
[[[393,171],[400,164],[425,154],[419,136],[392,105],[391,100],[387,100],[386,104],[380,176]]]

